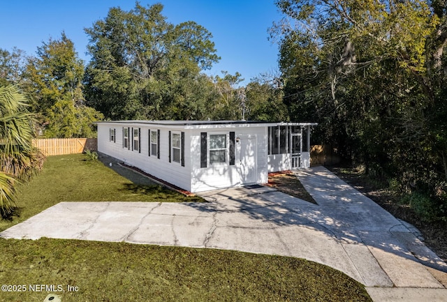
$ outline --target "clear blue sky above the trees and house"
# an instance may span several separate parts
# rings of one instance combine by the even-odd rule
[[[162,3],[163,15],[179,24],[195,21],[213,35],[219,63],[210,75],[221,75],[221,70],[242,74],[247,84],[260,73],[277,70],[277,45],[268,40],[268,28],[281,15],[274,0],[160,0],[145,1],[144,6]],[[81,59],[85,54],[88,37],[84,29],[107,16],[111,7],[123,10],[135,7],[133,0],[15,0],[2,1],[0,10],[0,48],[17,47],[34,55],[37,47],[49,38],[60,38],[65,31],[75,43]]]

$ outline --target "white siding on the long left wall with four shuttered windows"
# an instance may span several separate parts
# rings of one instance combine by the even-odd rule
[[[141,151],[133,151],[123,148],[123,127],[140,128],[140,148]],[[110,142],[109,129],[116,129],[116,141]],[[149,129],[160,130],[160,158],[149,156]],[[173,160],[169,162],[169,131],[184,132],[184,167]],[[176,127],[163,127],[156,125],[139,125],[138,123],[98,123],[98,151],[108,154],[114,158],[122,160],[127,165],[138,167],[142,171],[172,183],[184,190],[191,190],[190,171],[191,171],[191,140],[187,134],[188,130]],[[130,142],[133,143],[133,137]]]

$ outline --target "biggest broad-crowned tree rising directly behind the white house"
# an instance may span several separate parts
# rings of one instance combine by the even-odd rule
[[[85,29],[91,54],[86,96],[105,118],[205,115],[212,91],[200,71],[219,60],[212,35],[196,22],[171,24],[162,10],[161,4],[144,7],[138,2],[129,12],[111,8],[104,20]],[[193,93],[198,86],[200,98]]]

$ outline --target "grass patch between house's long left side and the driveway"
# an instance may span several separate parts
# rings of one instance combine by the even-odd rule
[[[129,172],[133,173],[133,172]],[[0,231],[59,202],[201,202],[163,186],[136,184],[83,154],[49,156],[43,171],[19,187],[17,211]]]

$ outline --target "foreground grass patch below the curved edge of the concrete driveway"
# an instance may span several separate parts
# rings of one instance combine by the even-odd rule
[[[0,239],[0,249],[1,284],[61,285],[64,302],[371,301],[344,273],[291,257],[57,239]],[[1,300],[49,293],[2,292]]]

